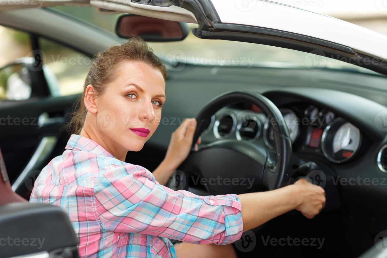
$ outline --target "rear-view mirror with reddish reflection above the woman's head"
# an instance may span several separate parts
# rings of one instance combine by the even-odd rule
[[[167,21],[140,15],[125,14],[118,18],[116,33],[120,38],[140,36],[145,41],[180,41],[189,28],[184,22]]]

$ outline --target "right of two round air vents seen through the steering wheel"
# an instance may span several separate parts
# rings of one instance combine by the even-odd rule
[[[255,116],[243,118],[236,127],[235,136],[238,140],[256,140],[261,132],[261,123]]]

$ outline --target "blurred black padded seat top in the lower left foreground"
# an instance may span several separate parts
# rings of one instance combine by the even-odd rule
[[[0,228],[3,243],[4,240],[15,243],[14,240],[19,239],[19,244],[0,244],[0,258],[42,251],[58,252],[58,249],[65,248],[74,253],[72,256],[59,257],[79,257],[76,249],[79,239],[68,215],[58,206],[29,202],[2,205]],[[21,244],[22,239],[24,242],[27,239],[29,244]]]

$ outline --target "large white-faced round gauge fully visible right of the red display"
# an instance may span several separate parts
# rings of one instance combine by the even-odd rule
[[[360,130],[344,119],[336,118],[322,133],[322,152],[330,161],[341,163],[356,153],[360,142]]]

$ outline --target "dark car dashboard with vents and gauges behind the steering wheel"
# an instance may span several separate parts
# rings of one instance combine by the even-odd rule
[[[293,137],[292,171],[300,169],[308,162],[315,162],[318,169],[325,174],[325,209],[329,209],[327,214],[337,212],[339,215],[329,215],[326,225],[322,223],[322,219],[316,222],[316,226],[337,232],[339,241],[351,239],[353,244],[353,234],[348,233],[343,225],[354,221],[356,227],[362,230],[360,236],[370,236],[370,245],[373,244],[374,237],[387,227],[387,208],[383,205],[387,196],[387,126],[383,124],[386,120],[379,118],[379,114],[387,114],[385,77],[330,70],[311,72],[294,69],[186,66],[180,72],[169,72],[169,78],[166,87],[168,101],[163,106],[163,118],[170,119],[167,120],[170,123],[161,123],[144,145],[143,149],[148,151],[147,154],[159,156],[158,161],[162,161],[165,152],[160,152],[159,155],[155,155],[155,152],[159,149],[167,150],[171,133],[179,125],[171,118],[183,121],[184,118],[197,117],[208,103],[225,92],[259,92],[281,111],[289,109],[294,112],[295,115],[289,112],[289,118],[296,116],[300,120],[299,125],[288,125]],[[221,120],[226,112],[232,114]],[[243,112],[250,114],[250,117]],[[286,118],[286,114],[284,115]],[[315,121],[316,125],[303,123],[302,118],[316,116],[320,120],[325,118],[322,126],[317,124],[320,120]],[[241,118],[245,118],[247,122],[241,122]],[[257,123],[254,122],[256,120]],[[353,126],[346,124],[342,127],[343,121]],[[257,107],[249,103],[229,103],[212,116],[210,125],[202,133],[202,144],[232,139],[251,141],[252,144],[266,147],[265,137],[267,138],[269,130],[265,130],[265,123],[266,116]],[[327,129],[329,125],[331,126]],[[326,137],[322,141],[324,131]],[[356,144],[358,132],[360,140]],[[335,135],[337,144],[333,145]],[[340,142],[341,145],[338,144]],[[339,160],[339,163],[324,155],[322,143],[330,145],[334,153],[328,157]],[[340,146],[344,149],[340,150]],[[269,147],[266,149],[269,150]],[[148,167],[152,160],[149,155],[140,155],[139,152],[132,152],[129,156],[134,162],[141,164],[139,162],[143,161],[144,166]],[[211,156],[207,158],[212,159]],[[154,168],[159,162],[154,163]],[[243,165],[245,164],[241,164]],[[219,170],[218,173],[222,175],[223,171]],[[238,171],[235,173],[238,175]],[[373,180],[378,183],[372,183]],[[351,217],[349,219],[342,214]],[[332,224],[334,222],[337,224]],[[348,237],[342,237],[341,232],[347,232]],[[360,244],[363,242],[366,243],[359,241]],[[337,243],[339,242],[334,245]]]

